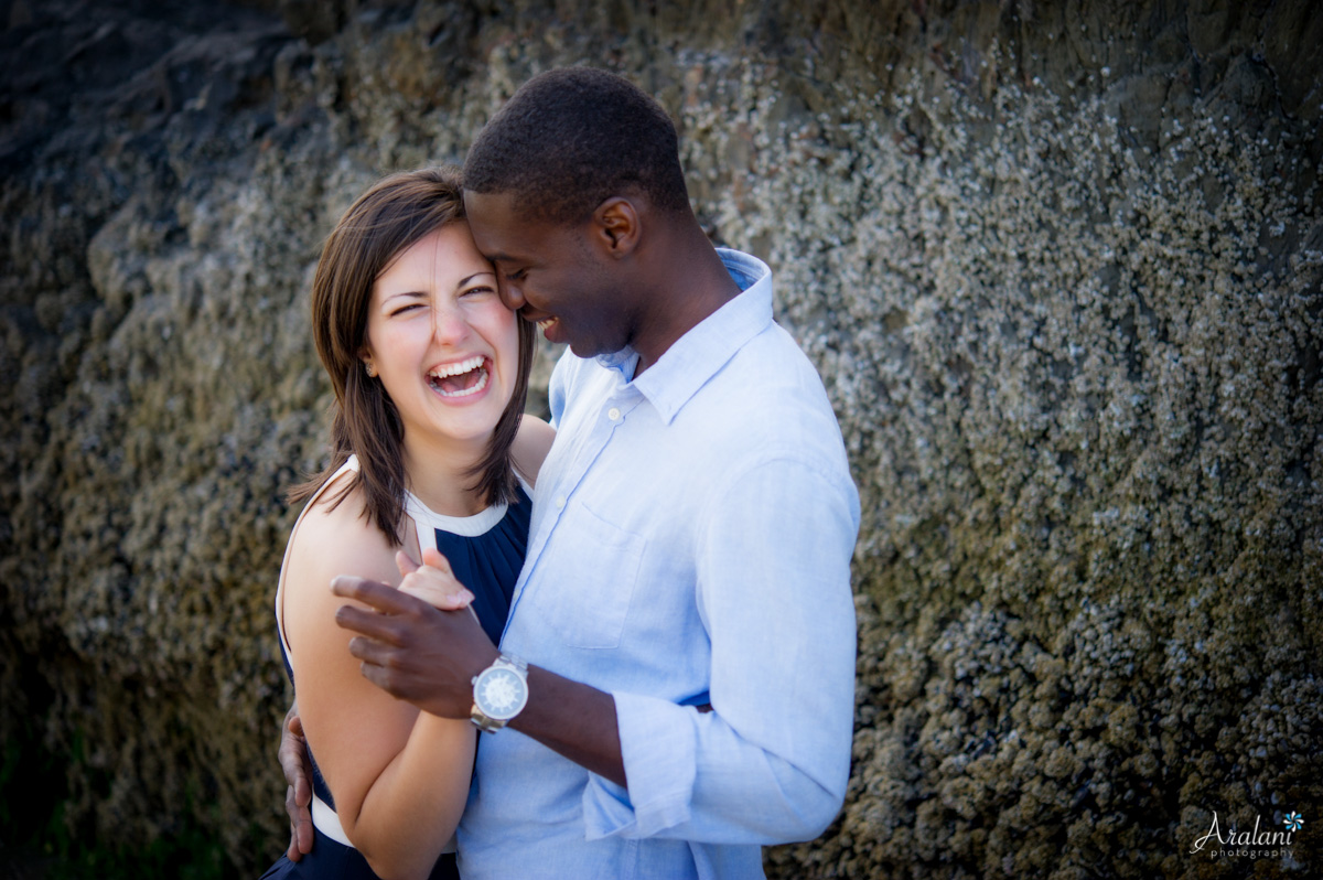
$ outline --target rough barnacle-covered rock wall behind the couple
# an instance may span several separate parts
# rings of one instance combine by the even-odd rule
[[[1314,5],[0,1],[5,809],[275,858],[320,238],[593,64],[773,263],[860,486],[851,793],[769,875],[1318,872]]]

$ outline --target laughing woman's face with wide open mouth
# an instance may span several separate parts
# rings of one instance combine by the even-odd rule
[[[464,222],[421,238],[377,277],[363,359],[400,410],[406,454],[486,445],[515,390],[516,320]]]

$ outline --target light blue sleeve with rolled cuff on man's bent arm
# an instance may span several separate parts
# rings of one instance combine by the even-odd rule
[[[859,496],[804,450],[763,450],[713,492],[696,602],[713,711],[613,693],[628,790],[597,775],[587,838],[810,840],[849,775]]]

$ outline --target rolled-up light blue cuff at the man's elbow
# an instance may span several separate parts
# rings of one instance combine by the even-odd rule
[[[628,790],[589,774],[586,838],[651,838],[689,820],[697,769],[697,713],[636,693],[613,693]]]

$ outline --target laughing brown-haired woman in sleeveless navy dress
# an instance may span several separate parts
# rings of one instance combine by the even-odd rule
[[[455,876],[454,856],[438,856],[476,730],[363,678],[329,582],[353,573],[438,605],[471,599],[500,640],[528,536],[521,480],[552,437],[523,417],[534,328],[497,298],[451,169],[386,177],[345,212],[318,263],[312,327],[335,388],[332,461],[291,494],[308,504],[277,621],[314,757],[316,842],[266,877]],[[427,565],[413,570],[417,558]]]

